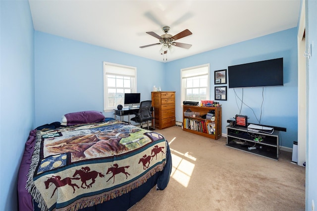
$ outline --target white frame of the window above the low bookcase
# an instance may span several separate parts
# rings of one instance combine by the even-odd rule
[[[204,68],[207,67],[207,73],[200,73],[200,71],[198,70],[197,73],[194,73],[194,71],[200,68]],[[188,72],[193,70],[193,72],[190,74],[190,76],[184,77],[183,75],[185,75],[185,71]],[[187,67],[187,68],[182,68],[180,69],[180,85],[181,85],[181,99],[180,99],[180,106],[183,106],[183,101],[186,101],[186,84],[184,84],[184,79],[185,78],[191,78],[191,77],[197,77],[200,75],[207,75],[207,87],[206,87],[206,100],[210,100],[210,64],[201,64],[201,65],[197,65],[197,66],[193,66],[193,67]],[[201,99],[201,100],[205,100],[205,99]]]

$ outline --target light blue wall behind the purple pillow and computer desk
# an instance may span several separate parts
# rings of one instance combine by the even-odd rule
[[[153,86],[163,83],[162,62],[36,31],[36,126],[60,121],[69,112],[103,111],[103,61],[137,67],[141,100],[151,100]]]

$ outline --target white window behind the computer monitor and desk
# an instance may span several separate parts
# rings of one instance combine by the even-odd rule
[[[136,93],[136,67],[104,61],[104,110],[124,104],[124,93]]]

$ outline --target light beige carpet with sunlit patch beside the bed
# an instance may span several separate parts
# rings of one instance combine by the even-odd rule
[[[305,167],[225,146],[174,126],[161,133],[170,143],[173,170],[167,188],[153,188],[130,211],[304,211]]]

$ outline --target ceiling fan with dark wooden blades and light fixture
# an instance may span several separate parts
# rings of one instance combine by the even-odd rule
[[[170,29],[169,26],[163,26],[162,30],[165,34],[163,34],[161,36],[159,36],[155,32],[147,32],[147,34],[158,38],[159,43],[150,44],[150,45],[146,45],[146,46],[140,46],[140,48],[146,48],[146,47],[155,46],[155,45],[163,45],[159,52],[160,52],[160,54],[166,54],[168,49],[170,51],[173,51],[174,46],[184,48],[184,49],[189,49],[190,47],[192,47],[192,45],[190,45],[190,44],[175,42],[175,40],[178,40],[178,39],[181,39],[183,37],[187,37],[187,36],[193,34],[191,31],[189,31],[188,29],[185,29],[184,31],[172,36],[170,34],[167,34],[169,29]]]

